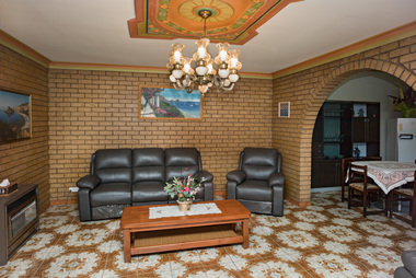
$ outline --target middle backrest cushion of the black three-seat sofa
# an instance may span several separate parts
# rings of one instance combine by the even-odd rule
[[[162,148],[132,150],[132,183],[143,181],[164,182],[164,151]]]

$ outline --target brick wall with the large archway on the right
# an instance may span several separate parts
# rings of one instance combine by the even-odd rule
[[[311,142],[322,103],[348,77],[368,70],[390,73],[416,89],[416,36],[274,80],[273,146],[282,152],[286,196],[310,202]],[[278,102],[290,102],[290,118],[279,118]]]

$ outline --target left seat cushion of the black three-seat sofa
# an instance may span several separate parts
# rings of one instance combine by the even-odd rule
[[[128,205],[131,202],[129,183],[107,183],[91,192],[91,206]]]

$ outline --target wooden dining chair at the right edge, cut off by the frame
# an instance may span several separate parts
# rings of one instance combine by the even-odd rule
[[[415,171],[414,177],[416,179],[416,171]],[[392,218],[394,216],[395,218],[409,223],[412,225],[412,228],[416,228],[416,186],[415,186],[415,182],[413,184],[413,187],[411,187],[411,188],[396,188],[396,189],[393,189],[390,194],[390,213],[389,213],[390,218]],[[407,218],[401,213],[393,211],[393,202],[395,200],[395,198],[394,198],[395,196],[396,196],[396,200],[398,200],[398,201],[406,200],[406,201],[411,202],[411,211],[409,211],[411,218]]]

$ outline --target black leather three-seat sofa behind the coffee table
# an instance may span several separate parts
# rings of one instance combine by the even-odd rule
[[[119,218],[128,206],[175,202],[163,189],[174,176],[205,178],[195,201],[212,200],[213,176],[195,148],[97,150],[91,173],[77,182],[81,221]]]

